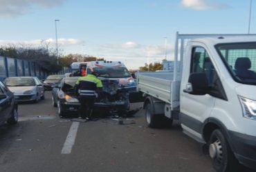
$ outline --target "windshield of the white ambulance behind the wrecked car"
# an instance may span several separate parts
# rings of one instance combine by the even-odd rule
[[[125,67],[95,67],[93,68],[95,72],[104,78],[128,78],[130,73]]]

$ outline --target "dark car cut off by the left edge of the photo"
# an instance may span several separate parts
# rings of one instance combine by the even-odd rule
[[[10,125],[18,122],[18,105],[15,96],[6,85],[0,81],[0,125],[6,121]]]

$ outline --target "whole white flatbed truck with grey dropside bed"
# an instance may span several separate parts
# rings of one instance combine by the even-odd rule
[[[256,169],[256,35],[177,32],[174,56],[174,72],[137,75],[147,125],[179,119],[216,171]]]

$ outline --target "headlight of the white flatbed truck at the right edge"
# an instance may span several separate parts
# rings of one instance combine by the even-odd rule
[[[238,98],[241,103],[241,108],[243,109],[244,118],[256,120],[256,101],[241,96],[238,96]]]

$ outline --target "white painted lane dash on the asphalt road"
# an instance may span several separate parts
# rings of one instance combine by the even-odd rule
[[[78,130],[80,122],[73,122],[69,132],[68,136],[66,136],[66,141],[64,142],[63,148],[62,148],[62,154],[69,154],[72,151],[72,147],[75,144],[75,137]]]

